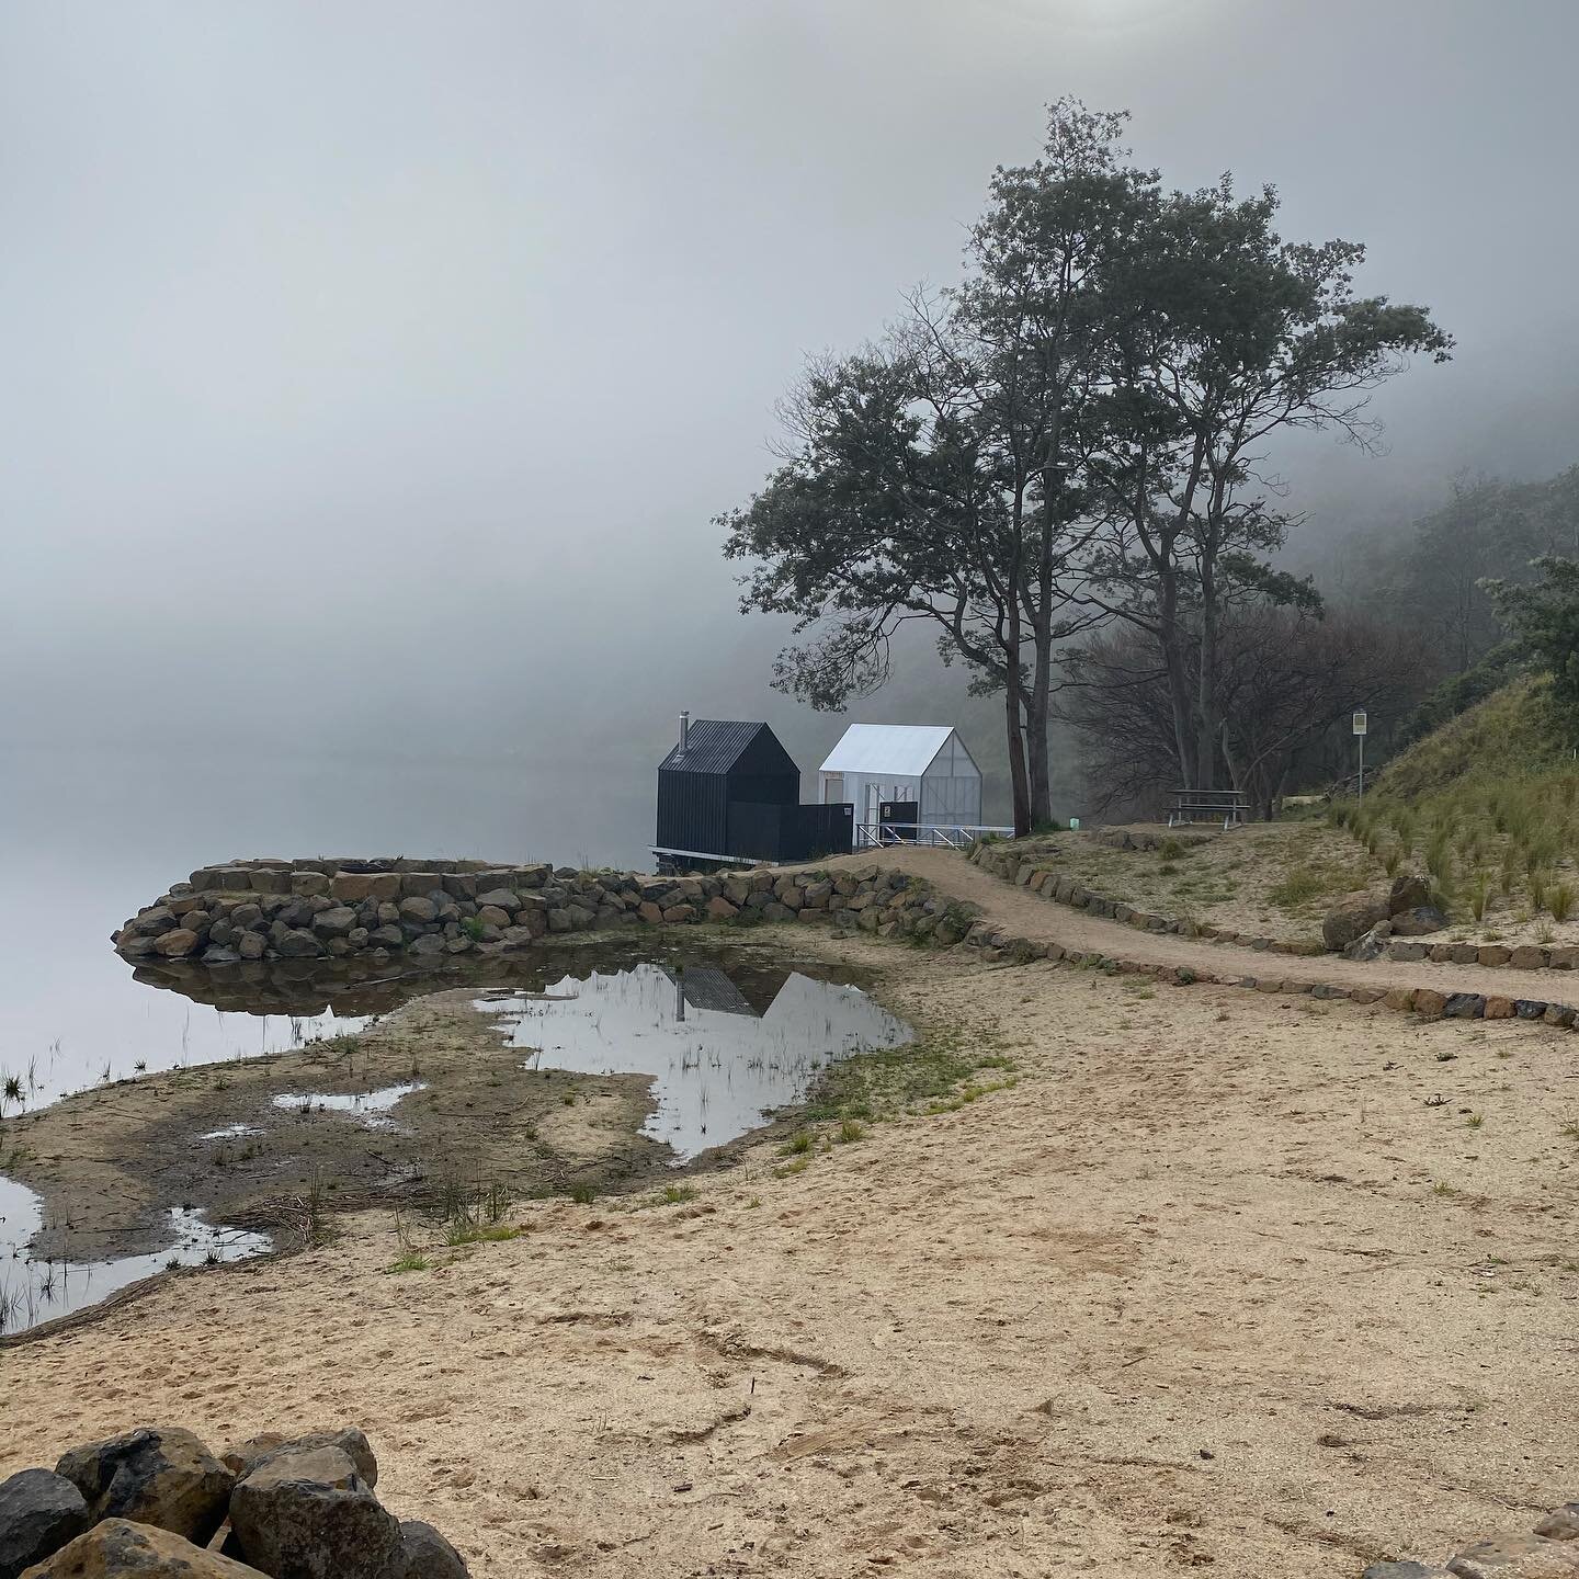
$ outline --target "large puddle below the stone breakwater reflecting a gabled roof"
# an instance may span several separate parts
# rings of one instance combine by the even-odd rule
[[[859,987],[791,971],[758,1009],[717,965],[636,965],[565,976],[538,993],[477,1000],[497,1014],[527,1069],[652,1075],[643,1134],[685,1162],[805,1099],[818,1072],[851,1053],[913,1039]]]

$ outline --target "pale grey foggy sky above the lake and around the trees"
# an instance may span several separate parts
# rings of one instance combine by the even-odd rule
[[[831,741],[711,518],[1063,93],[1168,185],[1276,182],[1285,235],[1369,243],[1361,287],[1457,336],[1378,399],[1388,455],[1287,453],[1312,531],[1557,471],[1576,46],[1570,0],[6,0],[5,739]]]

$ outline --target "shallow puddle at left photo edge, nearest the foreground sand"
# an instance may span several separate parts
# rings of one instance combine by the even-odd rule
[[[98,1304],[117,1288],[167,1271],[172,1263],[212,1266],[268,1249],[264,1233],[218,1228],[202,1213],[174,1206],[171,1243],[164,1249],[103,1262],[44,1262],[27,1254],[41,1221],[38,1197],[13,1180],[0,1180],[0,1336]]]

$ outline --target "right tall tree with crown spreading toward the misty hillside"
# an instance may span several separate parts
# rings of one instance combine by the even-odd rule
[[[1236,199],[1227,177],[1159,204],[1126,276],[1134,316],[1107,420],[1083,455],[1112,523],[1090,597],[1156,643],[1187,788],[1211,788],[1222,756],[1227,611],[1318,609],[1270,562],[1296,518],[1276,505],[1266,447],[1301,428],[1372,445],[1372,392],[1412,354],[1451,349],[1424,308],[1355,295],[1361,245],[1284,242],[1276,213],[1273,188]]]

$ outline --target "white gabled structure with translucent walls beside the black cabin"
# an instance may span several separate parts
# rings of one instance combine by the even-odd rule
[[[816,780],[824,805],[853,802],[856,823],[873,832],[892,801],[914,802],[922,827],[982,820],[982,771],[944,723],[853,723]]]

